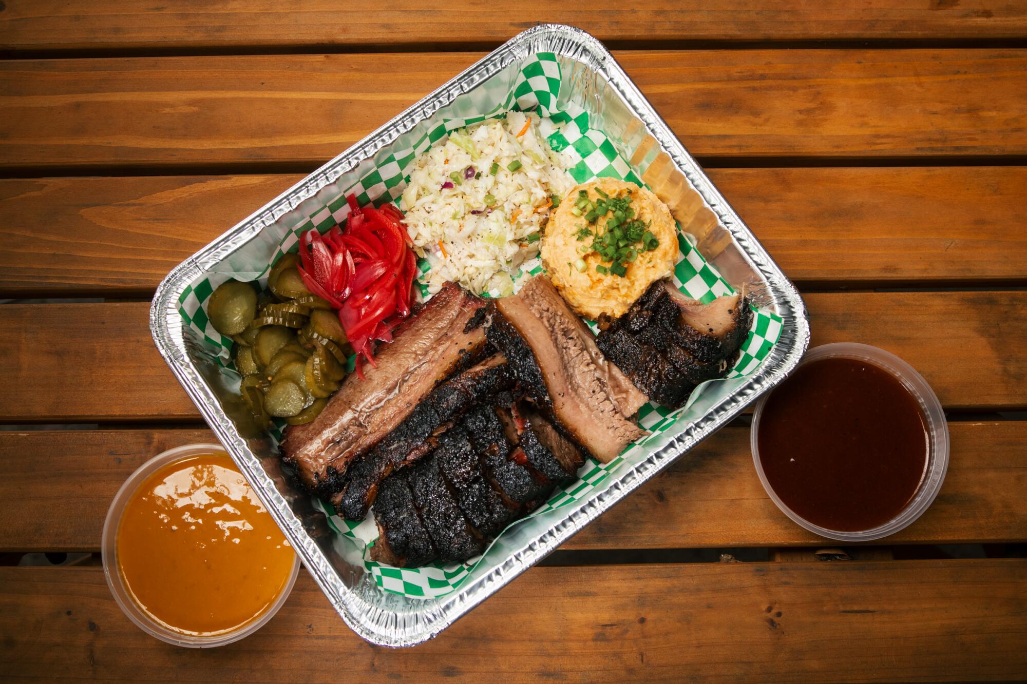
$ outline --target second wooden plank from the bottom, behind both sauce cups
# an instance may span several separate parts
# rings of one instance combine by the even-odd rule
[[[889,543],[1027,541],[1027,422],[949,426],[941,493]],[[94,552],[107,507],[147,459],[207,430],[0,432],[0,550]],[[972,510],[973,516],[966,515]],[[562,548],[808,546],[763,491],[749,429],[726,427],[572,537]]]

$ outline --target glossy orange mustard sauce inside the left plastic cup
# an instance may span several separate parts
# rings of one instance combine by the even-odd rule
[[[168,463],[132,494],[117,533],[137,605],[181,634],[213,637],[260,617],[295,554],[227,455]]]

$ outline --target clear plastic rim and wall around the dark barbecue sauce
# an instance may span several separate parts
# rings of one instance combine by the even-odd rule
[[[777,507],[786,516],[802,527],[828,539],[837,539],[838,541],[873,541],[874,539],[895,534],[899,530],[909,526],[927,509],[927,506],[938,496],[938,491],[942,488],[942,483],[945,481],[945,472],[949,467],[949,425],[945,420],[945,412],[942,410],[941,402],[938,401],[938,396],[930,388],[930,385],[927,384],[927,381],[923,379],[923,376],[917,373],[912,366],[884,349],[855,342],[825,344],[810,349],[799,364],[799,367],[822,358],[837,357],[855,358],[873,364],[877,368],[890,373],[916,397],[917,403],[920,405],[920,411],[923,413],[924,422],[927,425],[927,431],[930,435],[930,449],[927,454],[927,471],[912,500],[906,504],[906,507],[899,515],[883,525],[859,532],[830,530],[820,525],[813,525],[789,508],[773,491],[773,488],[770,487],[770,483],[767,482],[766,474],[763,472],[763,464],[760,462],[760,417],[763,415],[763,407],[773,396],[773,390],[760,398],[756,404],[756,410],[753,412],[753,427],[750,432],[753,462],[756,464],[756,473],[759,476],[760,482],[763,483],[763,489],[766,490],[773,502],[777,504]]]

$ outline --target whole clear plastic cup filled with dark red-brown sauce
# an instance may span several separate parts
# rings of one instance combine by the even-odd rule
[[[825,359],[851,359],[853,363],[844,364],[835,360],[817,364]],[[802,373],[804,368],[806,374]],[[816,378],[819,370],[821,377]],[[848,371],[847,376],[846,371]],[[826,382],[825,378],[831,374],[835,374],[832,377],[845,377],[847,383],[852,383],[850,387],[870,392],[868,401],[874,403],[874,406],[867,407],[870,410],[866,415],[852,410],[854,392],[851,395],[835,394],[833,398],[831,394],[825,394],[823,401],[822,396],[814,393],[812,388],[816,386],[817,381],[823,385]],[[891,379],[897,380],[905,392],[902,392]],[[793,381],[791,386],[790,380]],[[889,386],[896,387],[893,395],[886,391]],[[873,392],[877,392],[876,395]],[[906,393],[908,396],[904,398]],[[775,394],[776,404],[774,404]],[[903,402],[906,403],[905,406]],[[769,411],[768,406],[770,406]],[[918,409],[921,419],[919,431],[915,419],[913,422],[900,420],[902,417],[900,414],[907,409],[914,411],[913,407]],[[763,456],[769,460],[764,463],[760,456],[762,421],[767,414],[770,414],[771,420],[776,417],[778,421],[783,421],[788,415],[786,413],[788,410],[796,409],[808,412],[808,415],[795,414],[795,420],[799,423],[808,420],[808,425],[802,425],[802,429],[794,431],[794,446],[784,445],[784,441],[781,439],[784,431],[783,424],[778,423],[773,430],[765,426],[764,436],[768,442],[764,442],[766,453]],[[836,422],[830,419],[833,409],[838,411],[839,420]],[[874,417],[875,410],[877,420],[866,420],[867,417]],[[862,423],[859,420],[860,416],[864,417]],[[824,422],[817,422],[819,420]],[[888,440],[884,438],[885,426],[900,432],[896,436],[895,445],[888,445]],[[810,431],[805,432],[806,429]],[[822,430],[820,434],[816,433],[817,429]],[[881,432],[874,432],[875,430]],[[789,434],[792,432],[789,431]],[[880,451],[868,456],[866,461],[861,461],[859,447],[865,444],[875,444]],[[788,380],[757,403],[753,414],[751,445],[756,472],[777,507],[807,530],[839,541],[872,541],[895,534],[910,525],[935,500],[949,464],[948,423],[938,396],[923,377],[892,353],[877,347],[849,342],[827,344],[811,349]],[[773,445],[772,451],[770,445]],[[836,449],[827,449],[830,446]],[[885,453],[888,446],[895,446],[896,451]],[[789,449],[794,449],[794,458],[787,459],[792,461],[791,463],[784,463],[782,459],[789,455]],[[817,449],[821,451],[816,451]],[[917,453],[922,454],[922,457]],[[841,454],[846,454],[845,458],[848,460],[842,460]],[[817,462],[810,462],[817,457],[820,457]],[[833,462],[839,469],[830,469],[833,467],[831,459],[835,459]],[[866,468],[866,471],[861,471],[860,468]],[[822,482],[809,479],[811,474],[821,472],[824,473]],[[849,476],[848,481],[846,472]],[[829,473],[837,477],[831,478]],[[847,482],[852,484],[851,490],[846,489]],[[782,489],[781,492],[774,491],[774,483]],[[881,501],[873,503],[886,505],[887,496],[898,496],[895,500],[902,501],[906,495],[901,493],[901,488],[909,487],[910,483],[913,484],[910,487],[911,491],[908,492],[908,499],[900,510],[893,515],[888,514],[886,520],[881,520],[880,515],[877,515],[875,520],[873,504],[868,504],[866,509],[860,508],[861,500],[871,499],[878,493]],[[803,490],[808,493],[805,498]],[[796,512],[785,499],[789,499],[793,507],[805,510],[806,516]],[[833,505],[836,505],[837,509],[831,509]],[[846,520],[846,516],[847,520],[874,522],[865,529],[852,529],[851,525],[841,524],[841,521]],[[808,520],[809,518],[815,518],[822,524],[812,522]],[[838,527],[845,529],[831,529],[824,524],[827,520],[838,521]]]

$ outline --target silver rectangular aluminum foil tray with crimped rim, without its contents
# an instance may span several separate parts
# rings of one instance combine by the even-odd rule
[[[304,217],[304,204],[330,188],[346,187],[362,167],[381,158],[403,137],[442,108],[459,111],[493,79],[508,78],[518,64],[539,52],[555,53],[570,84],[566,93],[589,112],[598,127],[616,141],[618,152],[670,205],[699,252],[731,283],[746,282],[757,304],[779,315],[777,343],[752,374],[715,383],[703,391],[694,420],[680,420],[641,460],[625,462],[608,486],[580,505],[560,508],[541,533],[515,537],[508,555],[487,573],[472,575],[456,591],[431,600],[380,591],[363,565],[348,562],[337,535],[309,495],[291,484],[279,467],[274,443],[248,427],[238,395],[202,341],[179,313],[190,283],[219,265],[239,260],[257,240],[274,241]],[[564,93],[561,94],[564,97]],[[305,217],[304,217],[305,218]],[[277,234],[276,234],[277,233]],[[310,174],[277,198],[177,266],[157,289],[151,308],[154,341],[172,371],[199,408],[243,474],[281,526],[314,580],[342,619],[360,637],[384,646],[410,646],[434,637],[461,615],[537,563],[591,521],[627,496],[701,440],[728,423],[749,404],[783,380],[809,342],[805,306],[795,287],[757,241],[685,151],[603,45],[567,26],[544,25],[514,37],[450,82]],[[694,409],[694,407],[692,407]],[[658,521],[654,521],[658,525]],[[625,591],[630,591],[625,587]]]

